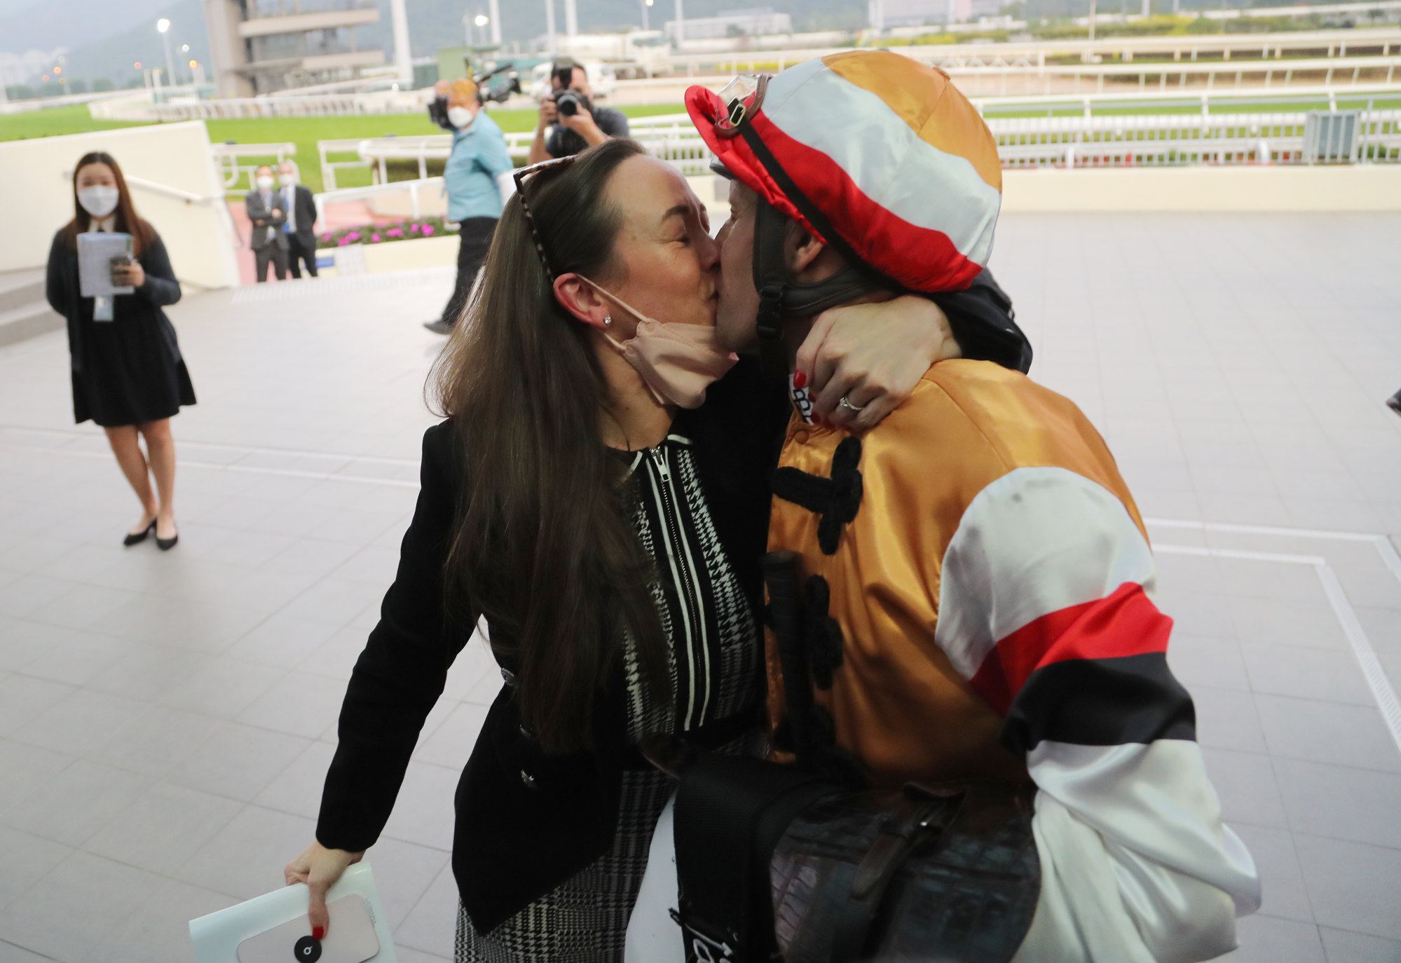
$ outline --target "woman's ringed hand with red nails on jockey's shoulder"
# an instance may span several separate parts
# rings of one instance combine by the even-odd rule
[[[797,370],[807,378],[814,418],[859,433],[895,411],[930,364],[961,355],[939,306],[905,294],[822,311],[797,350]]]

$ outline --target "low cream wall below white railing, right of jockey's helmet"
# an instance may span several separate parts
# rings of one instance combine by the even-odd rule
[[[1002,212],[1401,210],[1401,164],[1009,170]]]

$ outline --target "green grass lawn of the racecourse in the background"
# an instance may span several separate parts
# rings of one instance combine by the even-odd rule
[[[647,107],[625,107],[628,116],[653,116],[657,114],[679,114],[681,104]],[[534,130],[535,111],[492,111],[492,119],[502,130]],[[266,144],[291,142],[297,144],[297,165],[303,182],[314,192],[321,185],[321,156],[318,140],[347,140],[352,137],[382,137],[385,135],[423,136],[443,133],[425,114],[363,114],[354,116],[312,116],[312,118],[248,118],[238,121],[206,121],[209,139],[214,143],[235,140],[241,144]],[[27,137],[52,137],[63,133],[85,133],[88,130],[111,130],[132,128],[139,123],[116,121],[94,121],[83,104],[56,107],[45,111],[0,115],[0,140],[22,140]],[[269,157],[269,160],[273,160]],[[340,160],[345,160],[343,157]],[[416,165],[398,165],[389,171],[389,179],[417,177]],[[368,168],[347,168],[339,171],[336,185],[342,188],[370,184]]]

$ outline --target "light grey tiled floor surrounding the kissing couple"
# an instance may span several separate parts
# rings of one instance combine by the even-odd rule
[[[1401,534],[1398,235],[1395,216],[999,231],[1033,373],[1157,520],[1171,660],[1265,880],[1237,962],[1401,960],[1401,751],[1359,662],[1401,680],[1401,582],[1367,537]],[[277,886],[311,840],[433,421],[417,322],[450,283],[177,306],[200,404],[175,422],[170,554],[119,545],[136,506],[70,423],[62,335],[0,349],[0,963],[188,960],[189,918]],[[406,963],[451,956],[453,785],[495,685],[464,653],[368,856]]]

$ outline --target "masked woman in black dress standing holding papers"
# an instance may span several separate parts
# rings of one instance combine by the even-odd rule
[[[77,237],[84,231],[132,235],[133,261],[113,265],[112,283],[134,287],[116,294],[111,320],[94,320],[92,297],[78,289]],[[151,534],[161,549],[175,547],[175,442],[171,416],[195,404],[175,328],[161,310],[179,300],[179,282],[160,234],[136,214],[122,168],[111,154],[84,154],[73,172],[73,220],[53,235],[46,293],[69,320],[73,419],[90,418],[106,432],[116,464],[142,503],[123,538],[136,545]],[[146,453],[137,436],[146,439]],[[151,477],[156,489],[151,489]]]

